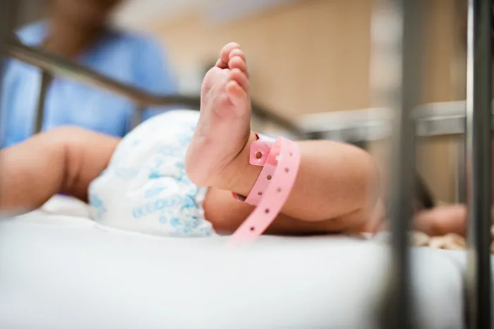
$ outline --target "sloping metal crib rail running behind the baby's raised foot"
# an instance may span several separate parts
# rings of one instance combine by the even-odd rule
[[[54,76],[68,77],[78,82],[100,87],[109,92],[114,92],[115,94],[131,99],[136,104],[143,104],[145,106],[183,105],[196,110],[199,110],[200,108],[200,97],[186,97],[181,95],[158,96],[150,94],[131,87],[130,85],[112,80],[109,77],[97,73],[94,70],[84,68],[61,56],[50,54],[42,49],[26,46],[15,39],[10,39],[6,42],[6,49],[8,56],[32,66],[37,66]],[[258,116],[263,120],[270,120],[294,133],[298,137],[303,137],[303,133],[297,125],[282,116],[278,116],[272,111],[268,111],[263,108],[263,106],[255,104],[255,102],[252,104],[252,111],[255,116]]]

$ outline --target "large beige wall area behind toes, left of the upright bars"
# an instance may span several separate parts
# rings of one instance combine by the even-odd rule
[[[216,58],[239,42],[253,97],[289,117],[369,106],[370,1],[312,0],[226,25],[190,13],[156,30],[179,69]]]

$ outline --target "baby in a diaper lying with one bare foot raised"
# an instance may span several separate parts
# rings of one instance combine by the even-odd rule
[[[57,193],[92,206],[95,221],[164,236],[230,234],[255,206],[248,196],[262,166],[249,163],[246,57],[222,49],[203,81],[200,112],[171,111],[123,139],[56,128],[0,152],[0,210],[37,209]],[[266,137],[260,137],[266,139]],[[378,227],[378,170],[363,150],[331,141],[296,142],[293,189],[267,233],[363,232]]]

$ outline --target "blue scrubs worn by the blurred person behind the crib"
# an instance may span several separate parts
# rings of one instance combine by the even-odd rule
[[[18,31],[18,37],[29,46],[40,46],[46,33],[46,23],[37,23]],[[109,31],[76,59],[83,66],[147,92],[176,94],[178,89],[163,47],[140,35]],[[32,135],[41,72],[9,60],[3,77],[0,140],[1,147],[8,147]],[[128,132],[134,108],[124,97],[55,77],[47,91],[42,128],[78,125],[121,137]],[[144,119],[166,109],[147,108]]]

